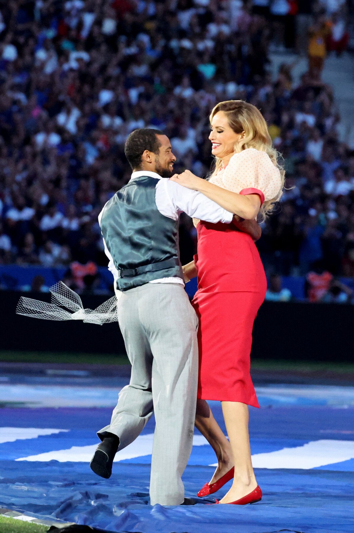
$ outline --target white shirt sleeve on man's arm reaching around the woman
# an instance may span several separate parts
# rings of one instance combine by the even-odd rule
[[[174,220],[184,212],[205,222],[229,224],[234,216],[201,192],[192,191],[166,178],[157,184],[155,201],[160,213]]]

